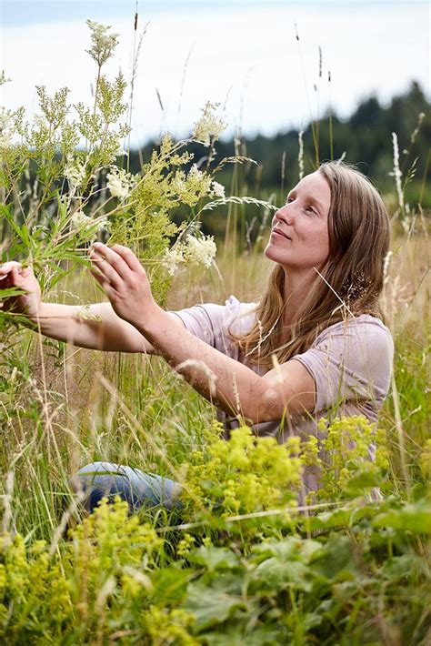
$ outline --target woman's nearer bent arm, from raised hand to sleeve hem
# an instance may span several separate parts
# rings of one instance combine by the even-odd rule
[[[145,269],[130,249],[97,244],[92,260],[95,278],[116,314],[143,334],[159,355],[227,414],[242,415],[256,424],[314,409],[315,382],[301,363],[289,361],[261,377],[185,328],[178,328],[155,303]]]

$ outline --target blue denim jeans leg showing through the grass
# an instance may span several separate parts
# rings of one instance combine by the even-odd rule
[[[85,492],[85,509],[92,512],[102,498],[115,496],[128,503],[131,511],[141,507],[150,509],[162,505],[167,510],[179,509],[181,486],[162,476],[148,475],[113,462],[92,462],[85,465],[71,479],[76,492]]]

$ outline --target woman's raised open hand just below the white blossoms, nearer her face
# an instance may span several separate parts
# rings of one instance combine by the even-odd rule
[[[143,326],[160,308],[151,293],[144,267],[131,249],[106,247],[95,242],[90,255],[92,274],[104,288],[115,314],[132,325]]]

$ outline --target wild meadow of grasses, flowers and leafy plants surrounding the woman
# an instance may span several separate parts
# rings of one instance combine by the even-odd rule
[[[78,104],[72,119],[65,91],[39,88],[35,123],[2,113],[2,262],[30,263],[45,300],[79,305],[83,318],[105,299],[88,272],[96,237],[133,247],[167,308],[230,294],[256,300],[276,198],[244,195],[246,154],[216,156],[224,124],[211,104],[191,137],[204,165],[191,165],[187,142],[165,136],[139,176],[128,173],[118,156],[125,80],[102,73],[115,36],[89,26],[95,105]],[[318,459],[311,439],[278,445],[243,425],[226,442],[212,405],[161,359],[75,348],[0,309],[2,641],[429,643],[429,219],[405,203],[408,172],[396,139],[387,146],[393,239],[383,299],[396,358],[377,459],[364,460],[373,434],[364,420],[337,420],[324,440],[332,461],[322,490],[303,508],[300,472]],[[224,190],[220,166],[232,167]],[[178,225],[180,205],[188,215]],[[240,233],[248,208],[259,209],[249,236]],[[216,257],[199,228],[207,213],[226,219]],[[0,289],[0,298],[16,293]],[[182,509],[129,515],[117,500],[87,516],[68,480],[98,459],[177,480]]]

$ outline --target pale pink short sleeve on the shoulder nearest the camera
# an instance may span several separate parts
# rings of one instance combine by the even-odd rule
[[[378,410],[389,389],[393,354],[389,330],[364,315],[327,328],[294,359],[315,379],[316,413],[347,401],[369,402]]]

